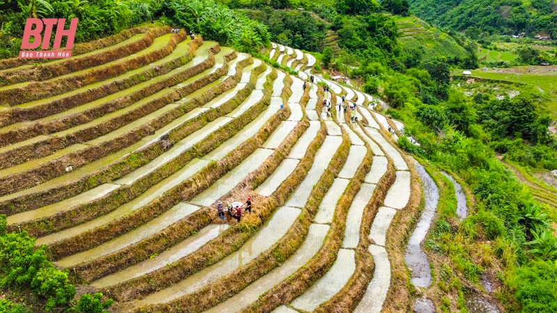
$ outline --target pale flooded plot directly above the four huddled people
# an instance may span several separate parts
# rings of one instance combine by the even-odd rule
[[[232,188],[237,184],[242,182],[242,179],[246,177],[250,172],[257,170],[259,166],[267,157],[273,154],[274,150],[269,149],[258,149],[253,152],[249,157],[247,157],[239,166],[236,166],[233,170],[226,173],[217,182],[214,182],[209,188],[207,188],[202,193],[196,195],[190,200],[191,203],[199,204],[205,207],[209,207],[214,202],[217,202],[219,198],[226,195]]]

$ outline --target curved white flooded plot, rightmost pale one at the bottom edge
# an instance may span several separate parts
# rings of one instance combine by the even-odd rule
[[[366,293],[354,310],[354,313],[379,313],[383,308],[383,303],[387,298],[389,286],[391,284],[391,263],[385,248],[370,245],[369,252],[375,262],[373,278],[368,284]]]

